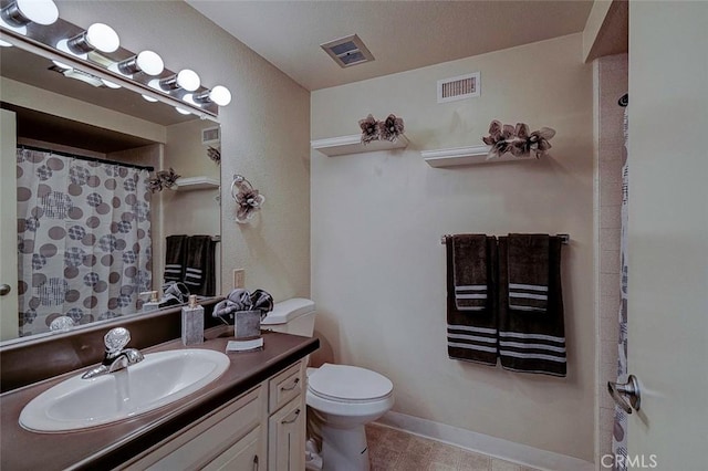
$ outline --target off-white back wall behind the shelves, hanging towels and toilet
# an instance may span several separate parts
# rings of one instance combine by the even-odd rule
[[[365,65],[364,65],[365,66]],[[438,105],[439,78],[481,96]],[[593,461],[593,87],[582,35],[312,93],[312,138],[402,116],[405,151],[312,151],[312,295],[336,360],[395,386],[394,410]],[[435,169],[420,149],[480,145],[491,119],[549,126],[541,160]],[[564,379],[448,359],[445,233],[568,232]]]

